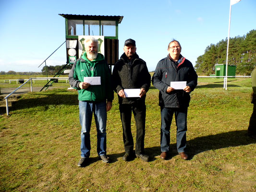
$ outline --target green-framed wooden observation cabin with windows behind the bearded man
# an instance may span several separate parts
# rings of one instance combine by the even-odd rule
[[[119,59],[118,24],[123,16],[59,14],[65,18],[67,63],[73,64],[85,51],[86,36],[98,39],[98,52],[111,66]]]

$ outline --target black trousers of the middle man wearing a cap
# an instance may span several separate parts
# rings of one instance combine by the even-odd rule
[[[145,103],[135,104],[120,104],[119,105],[122,131],[123,131],[123,144],[125,153],[132,153],[134,150],[134,140],[131,131],[132,111],[136,124],[136,145],[135,153],[144,153],[144,138],[145,138],[145,120],[146,120],[146,105]]]

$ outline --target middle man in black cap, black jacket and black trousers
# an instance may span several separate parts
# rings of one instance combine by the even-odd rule
[[[146,92],[150,87],[150,74],[146,62],[136,53],[136,45],[133,39],[127,39],[124,43],[124,53],[113,69],[113,88],[118,94],[119,110],[122,120],[123,143],[125,155],[124,161],[134,157],[134,141],[131,132],[132,111],[136,122],[135,155],[143,161],[148,161],[149,156],[144,153],[145,120],[146,120]],[[126,90],[135,89],[137,96],[127,96]]]

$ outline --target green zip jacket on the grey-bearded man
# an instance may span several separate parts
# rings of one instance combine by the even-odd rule
[[[90,85],[87,89],[81,89],[79,84],[84,82],[84,77],[100,77],[100,85]],[[114,97],[111,88],[111,73],[104,56],[98,53],[95,60],[88,60],[86,52],[76,60],[69,73],[69,84],[78,90],[79,101],[112,101]]]

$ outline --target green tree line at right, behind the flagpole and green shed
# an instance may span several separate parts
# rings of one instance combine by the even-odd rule
[[[210,44],[195,61],[195,71],[199,75],[214,74],[215,64],[226,64],[228,38]],[[236,66],[236,75],[250,75],[256,66],[256,30],[246,36],[230,38],[228,64]]]

